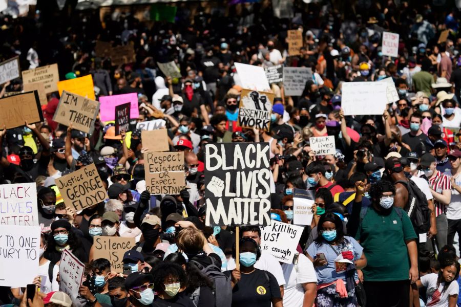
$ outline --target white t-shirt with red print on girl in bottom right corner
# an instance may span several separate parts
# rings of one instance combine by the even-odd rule
[[[445,282],[441,282],[437,287],[437,277],[435,273],[427,274],[421,277],[421,283],[427,287],[427,306],[431,307],[448,307],[448,297],[459,293],[459,286],[456,280],[453,280],[445,292],[442,292]]]

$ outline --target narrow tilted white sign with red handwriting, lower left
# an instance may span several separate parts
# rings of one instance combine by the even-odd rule
[[[85,265],[70,251],[64,250],[59,262],[59,291],[69,295],[72,301],[78,296],[78,290],[85,273]]]

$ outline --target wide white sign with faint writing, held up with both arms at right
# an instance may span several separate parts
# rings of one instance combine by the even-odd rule
[[[344,115],[381,115],[387,104],[387,82],[344,82]]]

